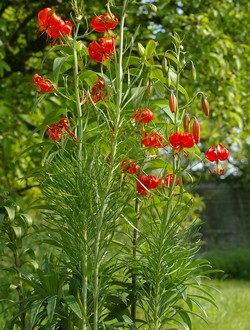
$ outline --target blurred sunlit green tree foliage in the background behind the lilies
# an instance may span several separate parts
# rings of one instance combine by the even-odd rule
[[[86,1],[85,12],[98,12],[105,1]],[[22,154],[32,141],[39,141],[35,127],[42,123],[46,109],[57,99],[43,103],[40,111],[32,113],[36,94],[32,76],[39,69],[46,72],[50,61],[44,62],[43,51],[50,47],[46,37],[37,37],[36,13],[48,5],[45,1],[2,1],[0,5],[0,137],[1,137],[1,194],[9,191],[20,195],[35,185],[25,175],[40,161],[38,149]],[[152,10],[157,6],[157,12]],[[50,1],[63,17],[70,2]],[[117,8],[118,10],[119,8]],[[248,172],[249,150],[249,2],[241,1],[155,1],[147,6],[137,4],[130,11],[127,22],[131,33],[140,22],[140,42],[154,39],[162,49],[169,48],[169,35],[178,32],[185,40],[187,54],[196,65],[197,80],[189,84],[188,92],[202,88],[211,104],[209,121],[201,121],[202,143],[220,142],[230,147],[231,172]],[[84,31],[83,31],[84,32]],[[187,78],[192,68],[186,69]],[[50,78],[50,77],[48,77]],[[197,117],[200,104],[197,100]],[[216,125],[214,123],[216,122]],[[249,179],[249,178],[248,178]],[[33,194],[34,192],[32,192]],[[26,194],[27,195],[27,194]]]

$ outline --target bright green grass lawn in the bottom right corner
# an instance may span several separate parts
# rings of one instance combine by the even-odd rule
[[[208,283],[218,308],[203,303],[208,314],[208,324],[193,319],[193,330],[249,330],[250,282],[236,280],[212,280]]]

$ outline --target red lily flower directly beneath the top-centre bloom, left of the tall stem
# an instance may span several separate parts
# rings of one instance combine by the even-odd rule
[[[92,41],[88,47],[90,58],[96,62],[106,61],[114,51],[114,38],[100,38],[100,43]]]

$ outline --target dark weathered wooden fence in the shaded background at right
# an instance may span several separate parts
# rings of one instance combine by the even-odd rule
[[[200,185],[206,205],[201,233],[207,247],[250,247],[250,190],[218,181]]]

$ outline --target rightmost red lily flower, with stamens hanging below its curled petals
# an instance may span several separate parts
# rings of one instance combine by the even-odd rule
[[[217,147],[209,147],[205,156],[210,162],[216,162],[215,169],[213,171],[210,170],[210,173],[217,175],[224,173],[220,161],[226,160],[229,156],[229,152],[221,143],[219,143]]]

